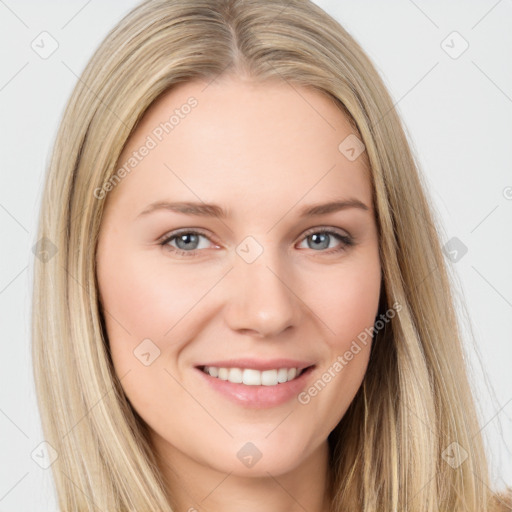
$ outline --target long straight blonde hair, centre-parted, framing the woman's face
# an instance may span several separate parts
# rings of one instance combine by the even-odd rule
[[[76,84],[46,176],[34,267],[34,376],[45,438],[58,454],[61,510],[172,511],[144,423],[110,359],[95,273],[104,201],[94,191],[115,173],[159,95],[227,72],[328,94],[371,166],[381,308],[402,307],[376,334],[363,385],[329,435],[331,510],[490,510],[433,208],[374,66],[308,0],[147,0],[107,35]],[[467,458],[452,467],[447,448]]]

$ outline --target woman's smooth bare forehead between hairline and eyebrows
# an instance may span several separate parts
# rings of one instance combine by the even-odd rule
[[[146,111],[121,154],[129,176],[109,193],[143,206],[160,199],[291,205],[356,196],[371,204],[366,155],[340,144],[356,135],[328,95],[286,81],[194,80]],[[151,147],[135,162],[134,153]],[[111,200],[112,197],[109,197]]]

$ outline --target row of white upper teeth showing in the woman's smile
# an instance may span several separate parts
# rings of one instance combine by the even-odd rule
[[[221,380],[228,380],[234,384],[245,384],[246,386],[276,386],[298,377],[297,368],[279,368],[275,370],[253,370],[252,368],[217,368],[216,366],[205,366],[203,371],[211,377]]]

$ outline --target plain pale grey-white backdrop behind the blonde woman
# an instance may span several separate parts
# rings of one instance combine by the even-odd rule
[[[369,54],[403,119],[452,254],[494,486],[512,485],[512,2],[316,3]],[[57,510],[51,470],[31,455],[44,440],[29,335],[37,214],[65,102],[136,4],[0,0],[0,512]]]

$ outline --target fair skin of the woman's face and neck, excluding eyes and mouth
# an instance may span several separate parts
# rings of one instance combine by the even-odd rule
[[[194,366],[304,359],[316,365],[311,385],[373,326],[381,266],[366,154],[350,161],[338,150],[355,130],[320,92],[224,76],[160,97],[120,165],[190,96],[197,106],[106,197],[97,274],[115,371],[149,426],[176,510],[326,511],[327,436],[362,383],[370,343],[306,405],[237,405]],[[299,217],[307,205],[348,198],[368,211]],[[230,216],[138,217],[160,200],[216,203]],[[196,256],[159,245],[180,228],[206,237],[167,246]],[[355,244],[330,235],[315,245],[317,228]],[[247,236],[263,249],[250,264],[236,252]],[[160,350],[148,366],[134,355],[147,338]],[[262,454],[252,467],[237,457],[247,442]]]

